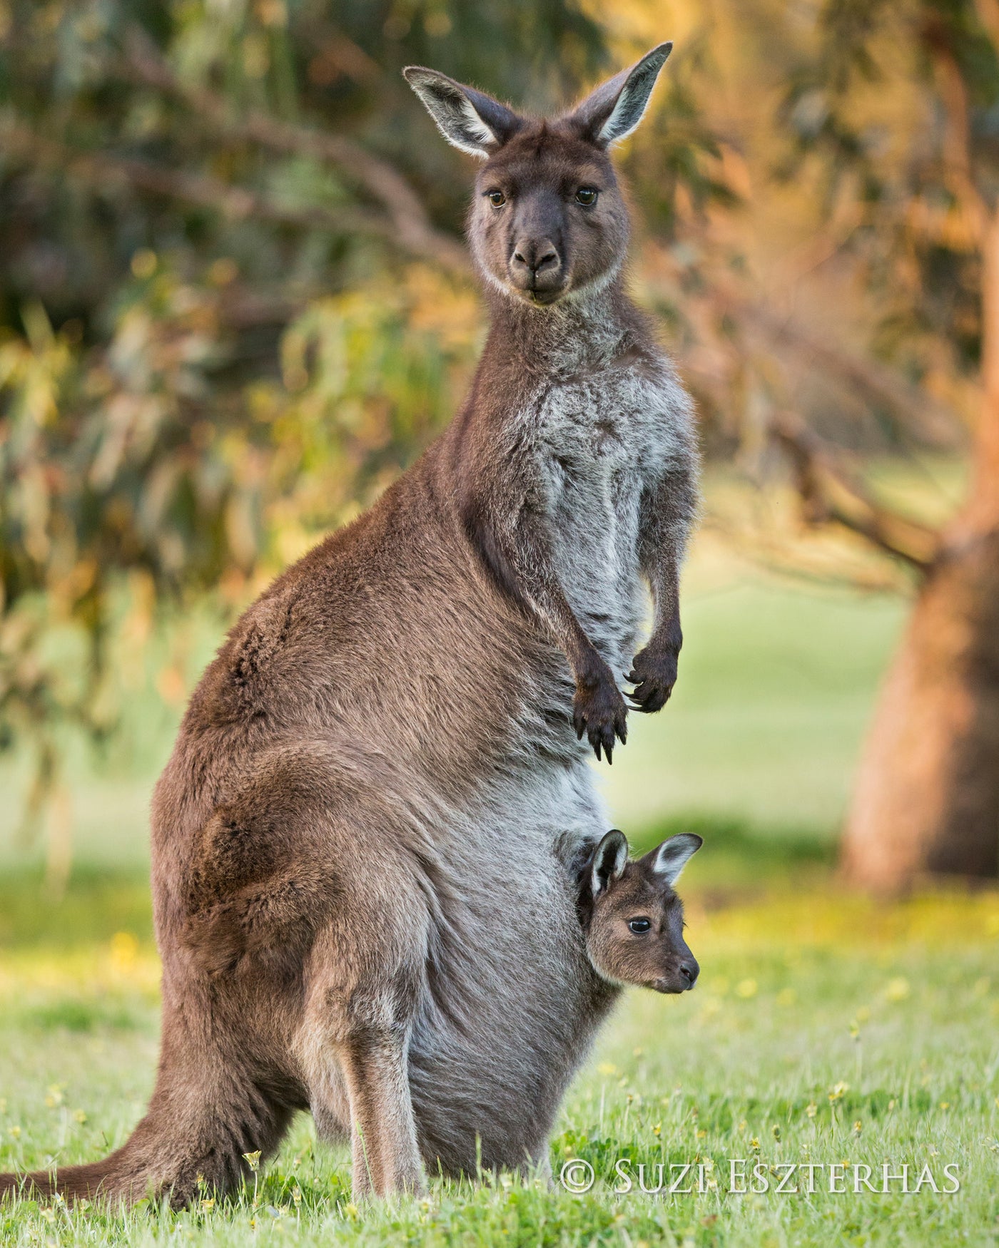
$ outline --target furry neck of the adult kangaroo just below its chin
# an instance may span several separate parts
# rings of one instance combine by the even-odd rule
[[[549,307],[490,292],[491,324],[481,368],[564,377],[598,368],[619,354],[634,329],[634,313],[618,282]],[[629,314],[631,313],[631,314]]]

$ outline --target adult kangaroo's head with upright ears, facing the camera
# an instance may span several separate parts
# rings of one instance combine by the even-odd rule
[[[642,120],[672,46],[654,47],[551,120],[521,116],[436,70],[402,71],[445,139],[483,161],[468,238],[503,295],[546,307],[617,276],[628,211],[607,151]]]

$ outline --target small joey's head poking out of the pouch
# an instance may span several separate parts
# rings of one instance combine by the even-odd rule
[[[683,832],[631,862],[624,834],[613,831],[593,850],[579,910],[589,961],[604,978],[656,992],[694,986],[701,968],[683,938],[683,902],[673,884],[702,845]]]

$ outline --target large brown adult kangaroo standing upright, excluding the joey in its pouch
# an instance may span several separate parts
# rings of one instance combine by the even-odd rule
[[[608,824],[588,750],[624,740],[623,673],[636,709],[664,704],[681,646],[691,404],[624,293],[607,155],[669,50],[547,121],[405,71],[483,158],[482,361],[447,432],[195,690],[152,802],[156,1088],[122,1148],[36,1192],[181,1204],[298,1108],[351,1137],[358,1196],[546,1163],[614,995],[568,869]]]

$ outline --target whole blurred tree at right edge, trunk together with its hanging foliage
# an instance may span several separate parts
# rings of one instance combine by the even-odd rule
[[[885,510],[868,517],[869,535],[887,538],[917,569],[918,593],[862,761],[843,862],[852,880],[875,889],[905,887],[923,871],[994,876],[999,5],[830,0],[819,34],[787,115],[802,149],[824,163],[830,191],[849,188],[855,253],[867,280],[888,290],[874,346],[930,384],[943,361],[973,386],[978,407],[959,512],[938,532]],[[875,96],[897,97],[899,79],[909,85],[908,116],[887,140]],[[814,441],[779,426],[777,434],[812,518],[842,518]],[[839,484],[840,497],[862,505]]]

